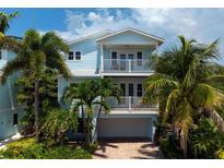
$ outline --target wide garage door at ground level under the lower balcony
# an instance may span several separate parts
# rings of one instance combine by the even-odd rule
[[[98,122],[98,137],[149,137],[149,119],[104,118]]]

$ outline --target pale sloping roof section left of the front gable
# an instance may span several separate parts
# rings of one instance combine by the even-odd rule
[[[85,39],[91,39],[91,38],[95,38],[96,39],[96,38],[99,38],[102,36],[113,34],[113,33],[114,33],[114,31],[111,31],[111,29],[105,29],[103,32],[91,34],[89,36],[84,36],[84,37],[78,38],[75,40],[69,41],[68,45],[72,45],[72,44],[75,44],[75,43],[79,43],[79,41],[82,41],[82,40],[85,40]]]

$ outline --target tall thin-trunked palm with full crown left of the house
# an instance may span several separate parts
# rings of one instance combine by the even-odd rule
[[[38,141],[39,131],[39,81],[47,68],[57,70],[58,74],[69,77],[69,70],[63,62],[62,52],[68,52],[69,47],[55,33],[40,34],[35,29],[28,29],[24,39],[3,38],[0,46],[16,53],[16,57],[9,61],[3,68],[1,82],[16,71],[22,71],[34,79],[35,97],[35,134]]]

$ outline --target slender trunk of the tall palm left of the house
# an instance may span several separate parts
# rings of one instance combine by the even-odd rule
[[[35,137],[36,142],[39,141],[39,82],[35,81],[35,88],[34,88],[34,96],[35,96],[35,104],[34,104],[34,113],[35,113]]]

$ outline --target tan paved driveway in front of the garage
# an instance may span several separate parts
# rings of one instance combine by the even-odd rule
[[[95,159],[149,159],[162,158],[158,146],[146,141],[99,142]]]

